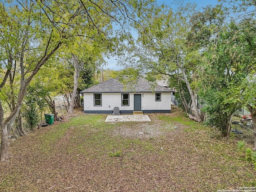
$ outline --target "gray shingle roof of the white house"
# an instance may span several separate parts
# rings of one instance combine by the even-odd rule
[[[153,86],[152,86],[153,85]],[[154,88],[153,88],[154,87]],[[135,90],[124,90],[124,85],[118,78],[112,78],[98,85],[92,86],[88,89],[81,91],[81,93],[105,93],[105,92],[172,92],[170,89],[149,82],[144,78],[138,78],[138,83]]]

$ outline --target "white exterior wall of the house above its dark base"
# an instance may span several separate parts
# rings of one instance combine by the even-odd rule
[[[121,105],[122,93],[101,93],[102,106],[94,106],[93,93],[84,93],[84,110],[113,110],[119,107],[120,110],[134,110],[134,94],[143,94],[141,97],[141,110],[170,110],[170,92],[161,93],[161,101],[156,101],[155,93],[129,93],[129,106]]]

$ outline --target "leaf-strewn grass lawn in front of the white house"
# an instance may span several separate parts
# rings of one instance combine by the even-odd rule
[[[237,140],[178,111],[152,122],[82,114],[12,142],[2,192],[211,192],[255,187]]]

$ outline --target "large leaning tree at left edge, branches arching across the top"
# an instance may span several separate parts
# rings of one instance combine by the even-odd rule
[[[85,34],[80,33],[80,29],[89,27],[89,30],[94,31],[88,38],[103,33],[102,28],[94,20],[107,17],[120,24],[119,32],[121,32],[127,26],[128,20],[136,20],[138,14],[143,14],[151,3],[151,0],[135,2],[24,0],[0,3],[0,47],[6,56],[1,58],[1,61],[7,60],[9,47],[13,46],[15,52],[12,53],[19,65],[21,76],[16,106],[6,120],[3,118],[4,108],[0,100],[1,161],[8,159],[8,128],[13,126],[22,106],[26,88],[40,68],[63,44],[72,42],[72,37],[84,36]],[[109,34],[109,36],[114,35]],[[5,86],[13,68],[14,61],[11,61],[8,60],[5,65],[7,70],[0,83],[0,89]]]

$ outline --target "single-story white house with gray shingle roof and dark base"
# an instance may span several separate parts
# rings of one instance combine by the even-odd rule
[[[138,79],[134,91],[124,90],[124,85],[117,78],[81,91],[84,94],[85,113],[106,114],[112,114],[115,107],[119,108],[120,113],[126,114],[133,111],[168,113],[171,110],[172,92],[144,78]]]

